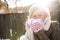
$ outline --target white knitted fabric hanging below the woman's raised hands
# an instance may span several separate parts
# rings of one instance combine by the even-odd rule
[[[26,30],[25,35],[22,35],[20,37],[20,40],[34,40],[34,35],[33,35],[32,29],[30,28],[30,29]]]

